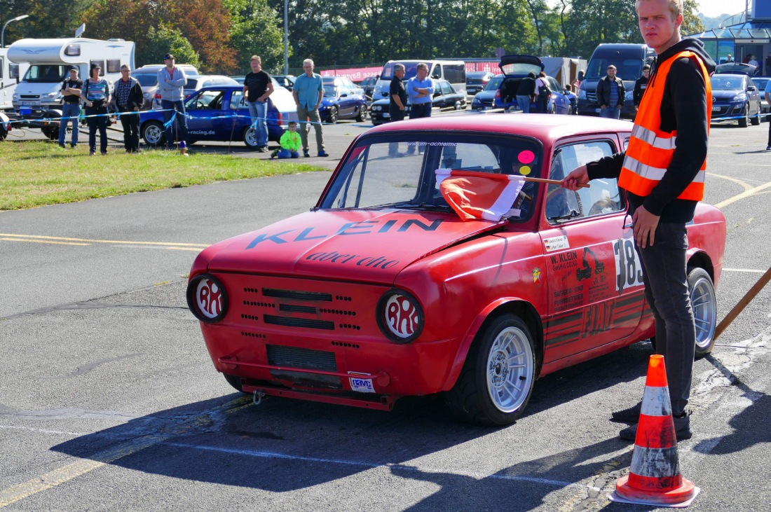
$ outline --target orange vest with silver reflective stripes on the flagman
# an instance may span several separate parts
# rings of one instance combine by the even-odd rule
[[[712,120],[712,82],[709,80],[709,72],[694,52],[679,52],[671,59],[662,63],[656,70],[655,80],[648,82],[645,95],[642,96],[640,109],[638,110],[635,127],[631,132],[629,146],[621,168],[621,176],[618,177],[618,186],[628,190],[637,196],[648,196],[658,182],[667,172],[672,156],[677,146],[677,130],[662,132],[662,99],[667,83],[669,69],[672,62],[688,57],[699,62],[704,74],[704,82],[707,88],[707,126]],[[707,160],[704,159],[699,173],[689,186],[682,191],[678,199],[691,199],[701,201],[704,199],[704,179]]]

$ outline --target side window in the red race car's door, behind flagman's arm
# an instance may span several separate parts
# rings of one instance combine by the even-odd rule
[[[613,152],[614,146],[609,141],[578,142],[561,146],[554,152],[549,177],[564,179],[573,169],[604,156],[611,156]],[[584,219],[619,212],[624,208],[617,179],[593,179],[589,185],[589,188],[575,192],[559,185],[550,185],[546,200],[546,217],[549,222]]]

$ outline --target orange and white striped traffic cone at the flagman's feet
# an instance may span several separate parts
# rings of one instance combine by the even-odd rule
[[[680,474],[664,356],[648,361],[629,476],[618,479],[614,494],[618,501],[657,507],[687,506],[699,494],[699,487]]]

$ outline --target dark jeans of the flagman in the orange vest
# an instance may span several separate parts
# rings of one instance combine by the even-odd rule
[[[616,109],[618,110],[618,109]],[[685,412],[691,395],[696,328],[688,291],[685,224],[658,223],[654,245],[637,248],[645,299],[656,322],[656,353],[664,356],[672,413]]]

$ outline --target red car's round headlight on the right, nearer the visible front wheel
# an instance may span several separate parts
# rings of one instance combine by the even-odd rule
[[[415,340],[426,323],[418,300],[403,289],[385,292],[380,297],[376,314],[382,333],[396,343]]]

